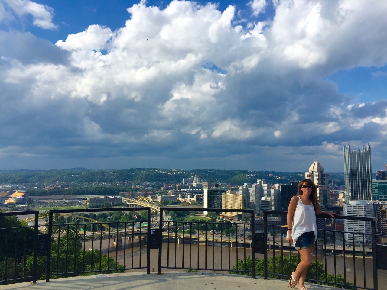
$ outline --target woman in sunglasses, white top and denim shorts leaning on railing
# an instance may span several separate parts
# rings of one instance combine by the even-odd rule
[[[304,283],[308,267],[312,264],[312,251],[317,240],[316,215],[322,213],[331,217],[334,215],[331,212],[321,212],[317,200],[317,189],[313,181],[301,180],[298,183],[297,195],[291,198],[288,207],[289,243],[294,242],[295,248],[301,255],[301,262],[290,276],[289,286],[291,288],[295,288],[299,281],[298,289],[308,290]]]

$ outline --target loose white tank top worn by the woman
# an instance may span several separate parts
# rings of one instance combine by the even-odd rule
[[[293,243],[296,244],[298,237],[305,232],[314,232],[315,241],[317,239],[317,223],[316,213],[314,211],[313,203],[305,205],[298,195],[298,203],[293,217],[292,238]]]

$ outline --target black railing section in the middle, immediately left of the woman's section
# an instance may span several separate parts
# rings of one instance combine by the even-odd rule
[[[203,209],[198,210],[197,208],[161,207],[160,217],[163,217],[163,212],[171,210],[175,212],[203,211]],[[235,212],[235,209],[215,208],[204,209],[204,211]],[[238,212],[248,213],[251,217],[254,217],[253,210],[238,210]],[[251,220],[254,221],[254,218]],[[247,239],[246,230],[250,231],[251,239]],[[178,233],[179,231],[180,233]],[[186,233],[186,231],[188,232]],[[162,268],[237,271],[238,273],[250,273],[255,278],[254,232],[254,222],[160,222],[158,273],[161,274]],[[231,233],[235,233],[235,237],[231,237]],[[238,236],[240,238],[239,240]],[[235,256],[234,261],[232,261],[230,255],[231,249],[233,250],[233,256]],[[248,251],[250,251],[250,254]],[[223,257],[224,252],[226,252],[225,257]],[[246,257],[250,257],[250,255],[252,267],[251,270],[247,270]],[[242,261],[241,264],[238,264],[239,260]]]

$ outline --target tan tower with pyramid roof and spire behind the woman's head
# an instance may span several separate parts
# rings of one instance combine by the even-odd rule
[[[320,204],[330,204],[330,190],[328,185],[328,174],[324,172],[324,167],[316,160],[309,167],[309,172],[305,172],[305,178],[311,179],[317,187],[317,200]]]

